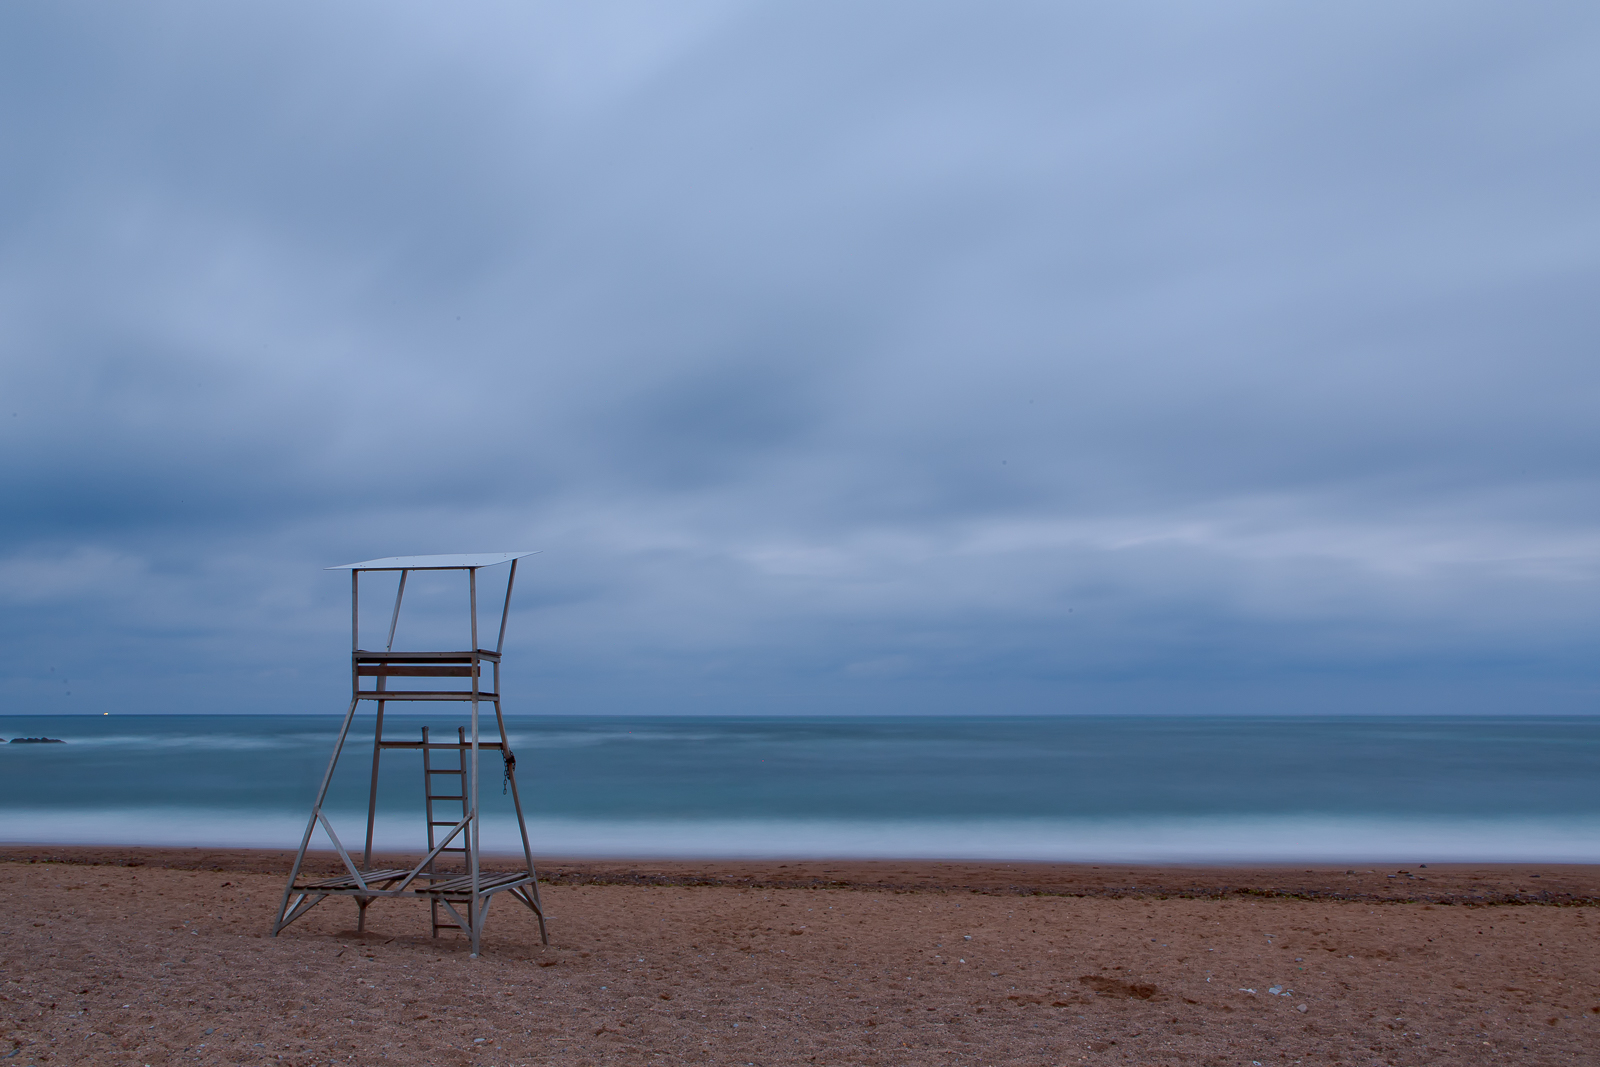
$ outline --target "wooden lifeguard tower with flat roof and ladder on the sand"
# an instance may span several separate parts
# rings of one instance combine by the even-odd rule
[[[333,757],[328,760],[328,769],[322,776],[317,800],[310,808],[310,819],[306,822],[306,835],[301,838],[299,853],[294,856],[294,867],[290,870],[288,885],[283,888],[283,902],[278,905],[278,915],[272,925],[274,937],[330,896],[355,897],[358,909],[357,929],[366,928],[366,909],[373,901],[386,897],[426,899],[432,910],[434,936],[437,937],[442,929],[461,929],[472,939],[472,955],[477,957],[490,902],[496,894],[509,893],[533,909],[533,913],[539,918],[541,941],[544,944],[550,942],[544,925],[544,907],[539,904],[539,883],[533,870],[528,825],[522,816],[522,797],[517,793],[517,757],[512,755],[510,741],[506,736],[506,717],[501,712],[499,696],[501,649],[506,645],[510,592],[517,582],[517,560],[525,555],[533,553],[397,555],[384,560],[366,560],[365,563],[344,563],[328,568],[330,571],[350,571],[350,709],[344,713],[344,723],[339,726],[339,739],[333,745]],[[510,563],[510,573],[506,577],[506,601],[501,605],[499,637],[494,641],[494,651],[490,651],[478,648],[478,571],[502,563]],[[389,640],[382,651],[362,648],[362,574],[371,571],[400,573],[394,611],[389,616]],[[406,577],[413,571],[467,573],[466,592],[470,640],[466,649],[429,653],[394,651],[395,629],[400,624],[400,603],[405,600]],[[488,677],[485,677],[485,667],[488,669]],[[371,688],[363,685],[366,678],[371,678]],[[442,678],[454,678],[456,681],[435,681]],[[395,680],[427,681],[400,681],[397,686],[394,685]],[[485,688],[485,681],[490,681],[488,688]],[[405,688],[408,685],[453,685],[454,688]],[[350,723],[355,720],[355,710],[362,701],[376,701],[378,723],[373,731],[371,795],[366,801],[366,848],[362,853],[362,862],[357,864],[339,841],[339,835],[334,833],[333,822],[323,813],[323,801],[328,798],[328,784],[333,781],[333,769],[339,763],[339,752],[350,734]],[[427,726],[422,726],[418,741],[384,737],[384,705],[390,701],[470,702],[470,728],[458,728],[456,736],[448,741],[429,737]],[[478,707],[485,702],[494,705],[498,734],[488,739],[478,731]],[[382,753],[390,749],[413,750],[422,757],[427,854],[422,857],[422,862],[410,869],[373,869],[373,824],[378,817],[378,765]],[[522,870],[491,873],[485,872],[480,864],[478,757],[485,750],[498,753],[502,760],[504,781],[510,790],[510,800],[517,809],[517,829],[522,833],[522,856],[525,864]],[[333,851],[344,862],[346,873],[336,878],[301,877],[301,869],[306,864],[306,849],[310,848],[318,825],[326,832],[328,840],[333,843]]]

